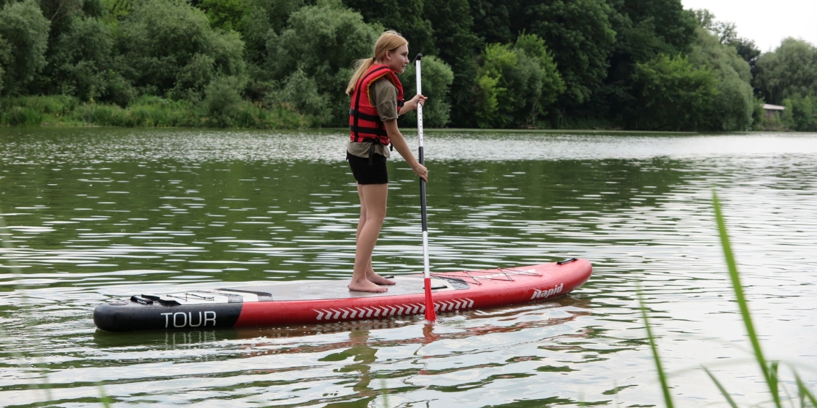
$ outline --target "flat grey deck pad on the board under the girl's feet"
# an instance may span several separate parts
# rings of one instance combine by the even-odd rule
[[[398,276],[392,279],[396,285],[385,286],[389,290],[382,293],[368,293],[349,290],[346,285],[349,280],[342,281],[297,281],[280,283],[268,286],[239,286],[232,288],[222,288],[219,290],[229,290],[240,292],[263,292],[272,295],[275,300],[313,300],[313,299],[349,299],[367,298],[377,296],[414,295],[424,293],[423,278],[414,276]],[[435,292],[456,290],[451,282],[445,279],[431,278],[431,287],[445,286],[435,289]]]

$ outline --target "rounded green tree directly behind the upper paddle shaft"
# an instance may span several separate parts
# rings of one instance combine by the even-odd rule
[[[428,97],[428,103],[422,110],[422,122],[424,126],[442,127],[449,124],[451,115],[451,104],[449,103],[449,91],[454,80],[454,73],[439,58],[429,55],[422,57],[422,95]],[[403,91],[406,99],[417,95],[417,71],[413,64],[408,64],[405,72],[400,75],[400,82],[403,83]],[[417,126],[417,113],[414,111],[401,118],[404,122],[401,126]]]

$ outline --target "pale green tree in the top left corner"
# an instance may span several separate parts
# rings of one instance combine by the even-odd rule
[[[48,20],[34,0],[9,2],[0,9],[0,86],[17,94],[46,65]]]

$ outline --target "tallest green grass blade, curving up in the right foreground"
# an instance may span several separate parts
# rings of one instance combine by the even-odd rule
[[[782,408],[780,405],[779,389],[777,388],[776,375],[775,379],[771,378],[769,367],[766,366],[766,358],[763,357],[760,340],[757,338],[755,326],[752,324],[752,316],[749,314],[749,306],[746,297],[743,296],[743,285],[740,283],[740,276],[738,274],[737,264],[734,262],[734,255],[732,255],[732,246],[729,242],[729,235],[726,233],[726,223],[721,214],[721,202],[717,199],[717,193],[712,190],[712,206],[715,207],[715,219],[717,220],[718,233],[721,235],[721,246],[723,247],[723,255],[726,259],[726,267],[729,268],[729,276],[732,280],[732,288],[734,289],[734,296],[738,301],[740,308],[740,315],[743,317],[743,324],[746,326],[746,332],[749,340],[752,342],[752,350],[755,353],[757,363],[761,366],[763,378],[766,379],[766,384],[769,385],[769,391],[775,401],[777,408]]]

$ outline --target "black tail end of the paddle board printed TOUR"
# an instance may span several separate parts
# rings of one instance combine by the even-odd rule
[[[105,331],[212,329],[232,327],[239,320],[243,303],[180,304],[114,301],[94,309],[94,324]]]

